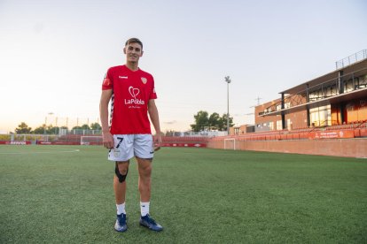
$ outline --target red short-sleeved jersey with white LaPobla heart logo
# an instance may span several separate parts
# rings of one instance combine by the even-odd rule
[[[103,90],[113,89],[111,101],[112,134],[152,133],[148,103],[156,99],[152,74],[126,65],[111,67],[105,74]]]

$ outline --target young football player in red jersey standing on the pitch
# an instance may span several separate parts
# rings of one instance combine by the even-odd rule
[[[126,177],[129,159],[137,158],[140,192],[140,225],[152,231],[163,228],[149,215],[151,198],[151,173],[154,145],[149,118],[161,143],[160,118],[154,103],[157,95],[152,74],[138,67],[143,56],[143,43],[130,38],[123,49],[126,65],[111,67],[105,74],[99,112],[102,123],[103,143],[110,149],[108,159],[115,162],[113,190],[116,200],[117,219],[114,229],[128,229],[125,211]],[[108,103],[111,100],[111,126],[108,126]],[[148,118],[149,114],[149,118]]]

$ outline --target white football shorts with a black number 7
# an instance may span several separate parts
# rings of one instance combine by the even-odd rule
[[[113,134],[113,141],[114,147],[108,153],[108,160],[128,161],[133,156],[154,156],[152,134]]]

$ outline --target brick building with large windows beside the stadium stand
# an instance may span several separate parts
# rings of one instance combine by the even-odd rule
[[[335,63],[336,70],[280,92],[255,107],[255,132],[335,126],[367,120],[367,50]]]

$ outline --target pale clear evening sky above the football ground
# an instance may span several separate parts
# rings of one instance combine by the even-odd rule
[[[162,131],[198,111],[254,124],[254,105],[367,49],[365,0],[0,0],[0,133],[98,122],[106,70],[144,43]]]

